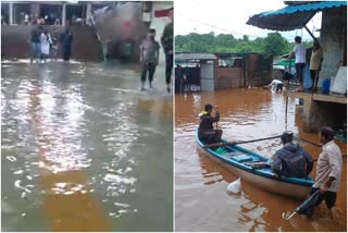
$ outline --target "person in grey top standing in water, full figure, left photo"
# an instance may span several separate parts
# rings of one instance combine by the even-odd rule
[[[156,29],[149,29],[148,37],[140,45],[140,63],[141,63],[141,90],[145,90],[145,82],[149,72],[149,87],[152,88],[156,66],[159,63],[160,44],[154,40]]]

